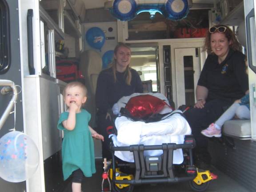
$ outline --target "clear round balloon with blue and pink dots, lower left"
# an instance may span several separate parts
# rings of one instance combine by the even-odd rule
[[[0,139],[0,177],[10,182],[29,179],[39,163],[39,152],[31,138],[22,132],[8,132]]]

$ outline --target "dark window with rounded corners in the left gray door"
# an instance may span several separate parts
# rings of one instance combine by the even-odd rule
[[[0,1],[0,74],[10,68],[9,10],[6,2]]]

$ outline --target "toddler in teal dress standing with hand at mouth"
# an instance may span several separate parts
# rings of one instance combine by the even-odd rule
[[[88,122],[91,114],[82,105],[86,102],[84,84],[72,82],[64,88],[63,96],[68,111],[60,114],[57,128],[64,131],[62,142],[62,168],[64,180],[72,176],[72,192],[81,192],[83,176],[96,172],[92,137],[104,141]]]

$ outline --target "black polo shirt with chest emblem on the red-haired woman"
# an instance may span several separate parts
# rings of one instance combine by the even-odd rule
[[[221,64],[218,56],[208,55],[198,85],[208,88],[207,101],[223,99],[233,102],[243,97],[248,90],[244,54],[230,49]]]

